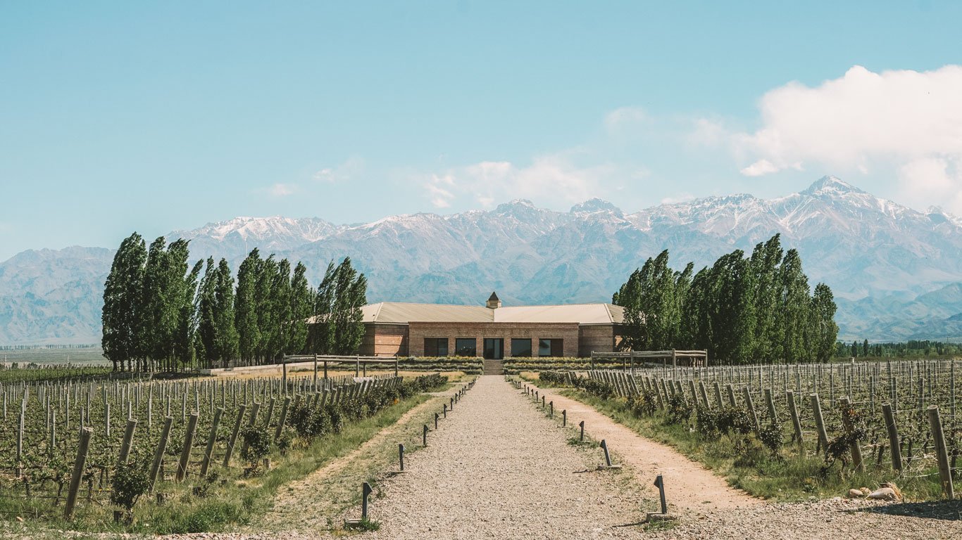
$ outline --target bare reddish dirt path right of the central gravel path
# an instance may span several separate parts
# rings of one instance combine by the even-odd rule
[[[595,440],[605,439],[608,447],[639,475],[639,483],[650,490],[650,496],[657,497],[657,488],[652,481],[656,476],[664,475],[665,497],[676,509],[723,510],[762,503],[729,486],[724,479],[673,448],[642,437],[590,405],[560,396],[550,388],[539,388],[539,392],[554,402],[556,410],[568,410],[571,425],[583,420],[585,433]]]

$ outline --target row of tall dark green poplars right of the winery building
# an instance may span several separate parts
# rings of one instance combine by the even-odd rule
[[[668,251],[648,258],[613,296],[625,307],[624,346],[704,349],[727,363],[826,361],[835,352],[835,301],[812,291],[794,249],[779,235],[735,250],[694,273],[672,270]]]

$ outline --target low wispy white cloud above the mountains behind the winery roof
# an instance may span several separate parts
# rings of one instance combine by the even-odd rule
[[[439,209],[461,197],[483,208],[518,198],[564,208],[595,196],[610,173],[610,166],[580,167],[558,154],[535,158],[522,167],[509,161],[480,161],[427,175],[422,183],[431,204]]]

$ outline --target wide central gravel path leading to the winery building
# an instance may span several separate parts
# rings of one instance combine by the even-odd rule
[[[568,443],[501,377],[481,377],[406,472],[370,503],[370,538],[622,538],[637,528],[637,486],[617,472],[580,472],[596,448]],[[360,515],[355,508],[352,517]]]

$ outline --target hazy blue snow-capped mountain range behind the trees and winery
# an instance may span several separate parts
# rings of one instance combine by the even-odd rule
[[[254,247],[303,261],[312,282],[349,256],[368,300],[480,304],[609,301],[628,274],[663,249],[696,268],[780,233],[809,282],[839,305],[840,337],[962,337],[962,219],[881,199],[834,177],[775,199],[747,194],[663,204],[633,213],[592,199],[570,211],[516,200],[491,210],[389,216],[336,225],[319,218],[237,217],[167,239],[192,258],[236,269]],[[149,239],[148,239],[149,240]],[[95,343],[113,250],[26,251],[0,263],[0,344]]]

